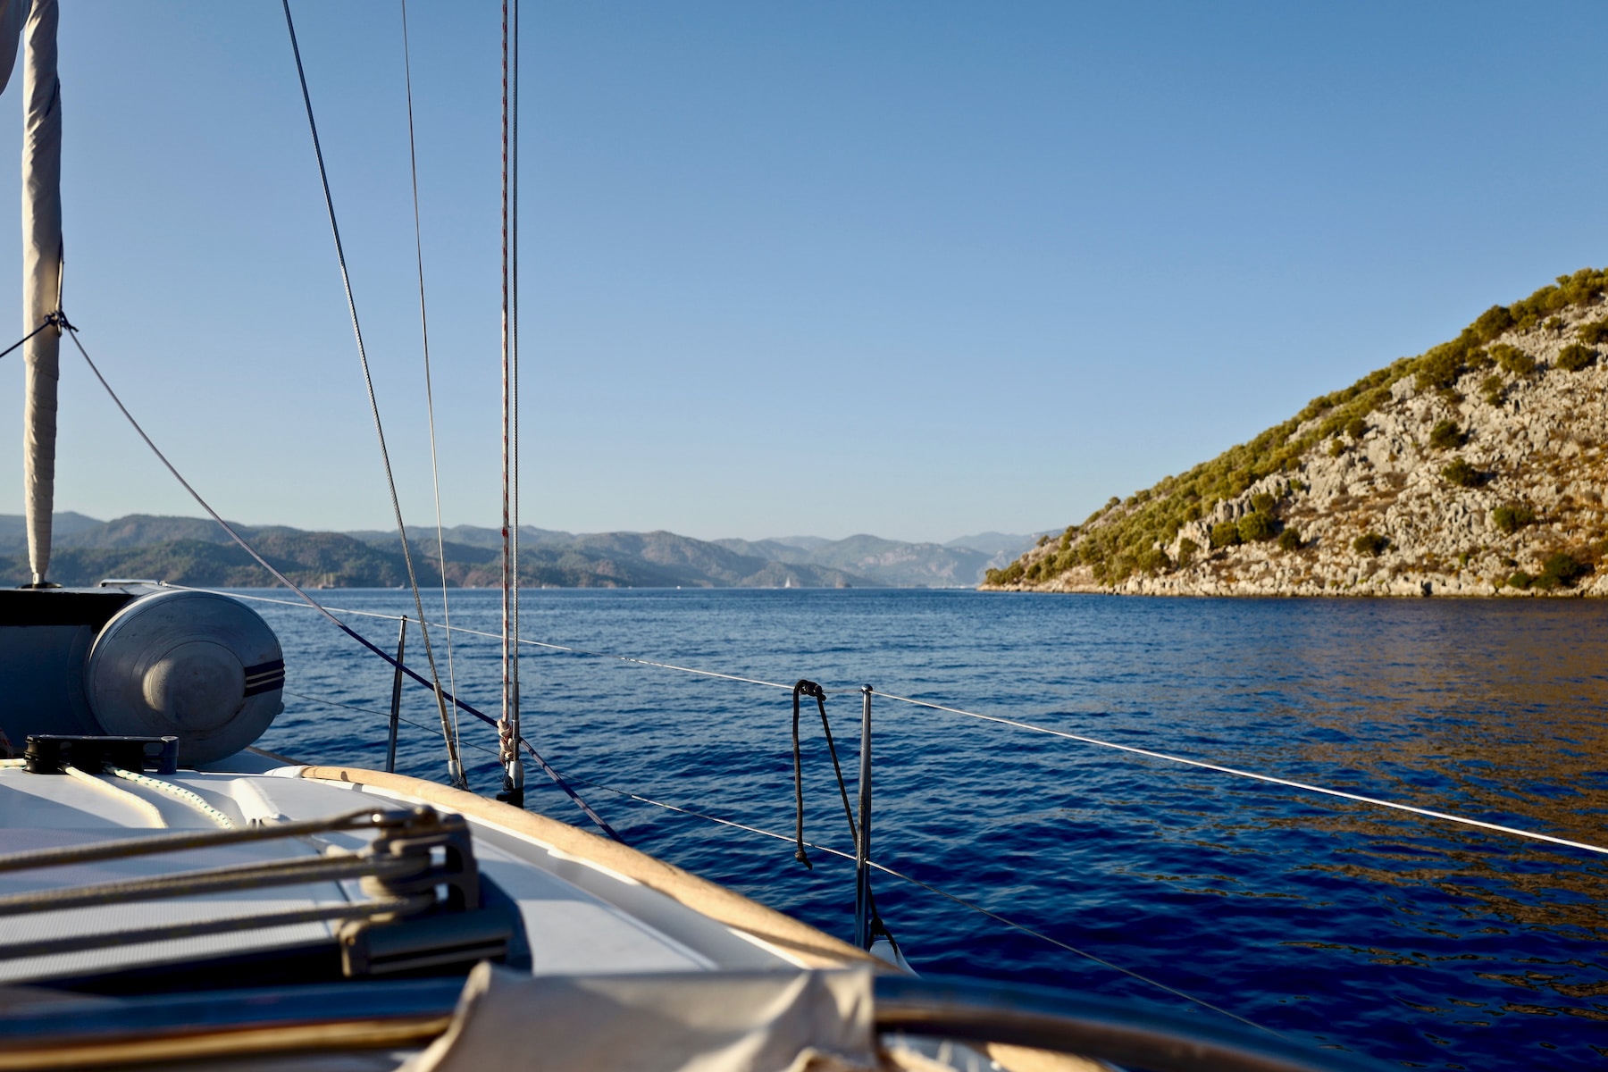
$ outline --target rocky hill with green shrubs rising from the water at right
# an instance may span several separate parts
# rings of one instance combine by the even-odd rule
[[[986,588],[1608,595],[1608,270],[1494,305],[1188,473],[1113,498]]]

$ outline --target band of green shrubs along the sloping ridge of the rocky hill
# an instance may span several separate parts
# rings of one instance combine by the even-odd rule
[[[1183,524],[1208,516],[1219,501],[1243,495],[1259,481],[1291,473],[1302,455],[1325,440],[1335,442],[1331,450],[1336,453],[1343,452],[1344,440],[1339,436],[1348,434],[1352,421],[1364,421],[1367,426],[1368,415],[1391,400],[1391,387],[1404,378],[1412,376],[1418,389],[1450,389],[1458,376],[1491,362],[1512,374],[1528,374],[1534,370],[1534,358],[1497,339],[1507,331],[1534,328],[1544,318],[1605,293],[1608,270],[1581,268],[1512,305],[1492,305],[1450,342],[1417,358],[1404,357],[1343,391],[1314,399],[1288,421],[1269,428],[1256,439],[1230,447],[1187,473],[1166,477],[1126,501],[1113,498],[1095,511],[1064,548],[1034,563],[1034,579],[1048,580],[1074,566],[1089,566],[1098,583],[1119,583],[1135,569],[1143,569],[1142,563],[1156,543],[1171,543]],[[1473,466],[1468,468],[1473,471]],[[1478,482],[1479,474],[1473,473],[1473,477]],[[1270,490],[1277,492],[1277,481],[1269,482],[1275,485]],[[1222,535],[1227,538],[1227,532]],[[1238,526],[1233,526],[1233,543],[1241,538]],[[1219,542],[1216,530],[1211,543],[1214,548],[1230,545],[1227,540]],[[1015,569],[1016,564],[994,571],[989,580],[1010,583],[1026,575],[1023,569],[1007,579]]]

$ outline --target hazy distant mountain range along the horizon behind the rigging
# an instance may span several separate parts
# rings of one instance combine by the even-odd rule
[[[233,522],[230,522],[233,524]],[[394,530],[309,532],[288,526],[243,526],[275,569],[299,585],[394,587],[407,582]],[[410,529],[420,583],[457,587],[500,583],[497,529],[445,530],[445,563],[434,530]],[[949,543],[902,543],[873,535],[846,540],[695,540],[674,532],[555,532],[521,529],[519,577],[527,587],[556,588],[950,588],[974,587],[991,567],[1005,566],[1034,545],[1034,535],[984,532]],[[0,514],[0,564],[6,583],[27,580],[23,518]],[[204,518],[130,514],[96,521],[77,513],[55,518],[50,579],[88,585],[106,577],[170,583],[252,587],[272,577]]]

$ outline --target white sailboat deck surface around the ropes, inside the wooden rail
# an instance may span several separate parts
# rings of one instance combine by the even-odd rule
[[[180,771],[164,781],[198,794],[236,826],[273,824],[351,813],[373,805],[418,804],[405,794],[352,783],[302,778],[304,768],[260,773]],[[114,781],[156,808],[153,815],[114,792],[63,775],[0,770],[0,853],[137,839],[174,831],[217,829],[195,805],[143,784]],[[717,923],[637,879],[600,866],[574,852],[542,844],[507,826],[470,818],[474,857],[487,897],[518,910],[534,974],[664,972],[708,969],[788,969],[801,961],[751,934]],[[561,824],[555,824],[561,826]],[[568,828],[564,828],[568,829]],[[59,890],[93,882],[143,879],[196,868],[215,868],[334,852],[355,852],[368,833],[325,834],[252,844],[193,849],[24,871],[0,871],[0,897]],[[8,940],[68,934],[101,934],[133,926],[180,924],[220,916],[312,908],[359,902],[355,879],[277,886],[137,900],[14,916]],[[19,926],[18,926],[19,924]],[[0,982],[71,980],[85,974],[127,971],[224,955],[251,955],[286,947],[333,947],[338,923],[175,937],[135,945],[109,945],[50,956],[0,959]],[[825,937],[825,935],[822,935]]]

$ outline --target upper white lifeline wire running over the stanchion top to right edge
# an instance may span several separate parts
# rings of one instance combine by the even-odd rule
[[[169,585],[169,587],[182,588],[185,585]],[[195,591],[214,591],[214,590],[212,588],[195,588]],[[238,591],[219,591],[219,595],[228,595],[228,596],[233,596],[236,599],[256,599],[256,601],[260,601],[260,603],[280,603],[280,604],[285,604],[285,606],[301,606],[301,604],[293,603],[289,599],[270,599],[267,596],[248,596],[248,595],[241,595]],[[381,619],[388,619],[388,620],[399,620],[400,619],[400,616],[397,616],[397,614],[376,614],[373,611],[343,611],[343,614],[362,614],[365,617],[381,617]],[[487,638],[492,638],[492,640],[497,638],[497,633],[487,633],[487,632],[482,632],[482,630],[473,630],[473,628],[461,628],[460,627],[458,632],[463,633],[463,635],[466,635],[466,636],[487,636]],[[547,648],[550,651],[563,651],[563,653],[568,653],[568,654],[587,656],[587,657],[593,657],[593,659],[616,659],[619,662],[634,662],[637,665],[656,667],[656,669],[661,669],[661,670],[677,670],[680,673],[691,673],[691,675],[698,675],[698,677],[717,678],[717,680],[722,680],[722,681],[740,681],[743,685],[759,685],[762,688],[780,688],[780,689],[785,689],[785,691],[790,691],[790,693],[793,691],[791,685],[783,685],[780,681],[765,681],[765,680],[761,680],[761,678],[741,677],[741,675],[736,675],[736,673],[720,673],[717,670],[701,670],[698,667],[682,667],[682,665],[677,665],[674,662],[656,662],[653,659],[638,659],[635,656],[617,656],[617,654],[613,654],[613,653],[608,653],[608,651],[590,651],[587,648],[574,648],[571,644],[555,644],[555,643],[542,641],[542,640],[521,640],[519,643],[521,644],[529,644],[532,648]],[[381,654],[384,654],[384,653],[381,653]],[[828,696],[831,696],[830,689],[823,689],[823,691]],[[1294,781],[1294,779],[1290,779],[1290,778],[1275,778],[1272,775],[1257,775],[1256,771],[1240,770],[1237,767],[1222,767],[1219,763],[1208,763],[1204,760],[1185,759],[1182,755],[1169,755],[1167,752],[1153,752],[1150,749],[1142,749],[1142,747],[1135,747],[1135,746],[1130,746],[1130,744],[1116,744],[1114,741],[1101,741],[1098,738],[1087,738],[1087,736],[1081,736],[1081,734],[1076,734],[1076,733],[1068,733],[1064,730],[1052,730],[1048,726],[1039,726],[1039,725],[1034,725],[1031,722],[1021,722],[1021,720],[1016,720],[1016,718],[1002,718],[999,715],[984,715],[984,714],[979,714],[979,712],[974,712],[974,710],[966,710],[963,707],[947,707],[944,704],[934,704],[934,702],[929,702],[929,701],[925,701],[925,699],[912,699],[909,696],[896,696],[892,693],[881,693],[881,691],[876,693],[876,694],[881,696],[883,699],[897,701],[900,704],[910,704],[913,707],[926,707],[929,710],[939,710],[939,712],[946,712],[946,714],[952,714],[952,715],[965,715],[968,718],[981,718],[982,722],[995,722],[995,723],[1000,723],[1000,725],[1013,726],[1016,730],[1029,730],[1032,733],[1047,733],[1050,736],[1064,738],[1064,739],[1069,739],[1069,741],[1077,741],[1081,744],[1093,744],[1093,746],[1098,746],[1098,747],[1116,749],[1119,752],[1132,752],[1135,755],[1143,755],[1147,759],[1164,760],[1164,762],[1169,762],[1169,763],[1182,763],[1185,767],[1200,767],[1203,770],[1212,770],[1212,771],[1217,771],[1220,775],[1232,775],[1235,778],[1249,778],[1253,781],[1264,781],[1264,783],[1270,783],[1270,784],[1275,784],[1275,786],[1285,786],[1286,789],[1301,789],[1304,792],[1317,792],[1317,794],[1322,794],[1322,796],[1339,797],[1343,800],[1354,800],[1357,804],[1368,804],[1368,805],[1380,807],[1380,808],[1389,808],[1389,810],[1396,810],[1396,812],[1409,812],[1412,815],[1421,815],[1421,816],[1426,816],[1426,818],[1436,818],[1436,820],[1442,820],[1442,821],[1447,821],[1447,823],[1460,823],[1463,826],[1476,826],[1479,829],[1489,829],[1489,831],[1495,831],[1499,834],[1510,834],[1513,837],[1524,837],[1524,839],[1529,839],[1529,841],[1545,841],[1545,842],[1550,842],[1550,844],[1555,844],[1555,845],[1563,845],[1566,849],[1582,849],[1585,852],[1595,852],[1595,853],[1600,853],[1600,855],[1608,855],[1608,847],[1592,845],[1592,844],[1584,842],[1584,841],[1571,841],[1568,837],[1557,837],[1553,834],[1542,834],[1539,831],[1521,829],[1521,828],[1516,828],[1516,826],[1502,826],[1499,823],[1487,823],[1484,820],[1473,820],[1473,818],[1466,818],[1466,816],[1462,816],[1462,815],[1452,815],[1449,812],[1434,812],[1434,810],[1430,810],[1430,808],[1415,807],[1412,804],[1397,804],[1394,800],[1381,800],[1380,797],[1367,797],[1367,796],[1362,796],[1362,794],[1357,794],[1357,792],[1346,792],[1343,789],[1327,789],[1323,786],[1314,786],[1311,783]]]

